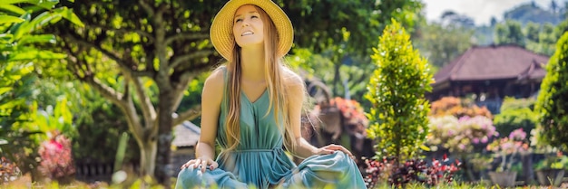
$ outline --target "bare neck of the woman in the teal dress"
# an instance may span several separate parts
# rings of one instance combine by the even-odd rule
[[[263,81],[264,78],[264,48],[243,48],[240,50],[241,79]]]

